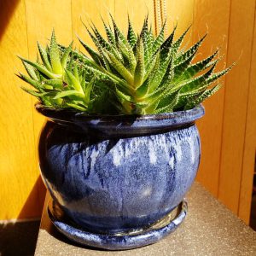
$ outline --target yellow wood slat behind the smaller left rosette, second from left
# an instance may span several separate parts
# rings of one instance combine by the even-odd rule
[[[26,1],[26,26],[28,34],[28,55],[30,59],[36,60],[37,41],[42,44],[48,44],[51,32],[55,29],[55,35],[61,44],[68,45],[72,41],[71,25],[71,0],[51,1]],[[61,10],[61,11],[56,11]],[[33,100],[33,104],[37,100]],[[32,106],[33,108],[33,106]],[[38,136],[44,125],[45,118],[32,109],[33,126],[35,137],[35,155],[36,160],[38,152]],[[38,173],[38,170],[35,171]],[[38,204],[42,209],[44,206],[45,189],[41,179],[38,179]]]

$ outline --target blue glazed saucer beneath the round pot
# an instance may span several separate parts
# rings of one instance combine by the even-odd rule
[[[159,241],[161,238],[176,230],[177,226],[181,224],[186,217],[187,211],[187,202],[183,200],[172,212],[169,212],[166,217],[161,218],[145,229],[108,235],[82,230],[65,216],[64,212],[62,212],[61,208],[58,207],[55,202],[49,201],[48,206],[50,220],[57,230],[64,236],[67,236],[68,239],[84,246],[107,250],[132,249]]]

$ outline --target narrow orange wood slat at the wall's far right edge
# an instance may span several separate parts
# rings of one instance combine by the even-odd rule
[[[250,82],[247,98],[247,122],[241,169],[240,200],[238,210],[238,216],[247,224],[250,220],[254,158],[256,149],[256,10],[254,11],[253,45],[251,56]]]

